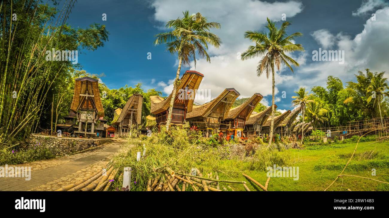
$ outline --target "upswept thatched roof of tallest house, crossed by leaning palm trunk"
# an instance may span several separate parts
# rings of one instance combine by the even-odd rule
[[[198,87],[200,86],[201,81],[203,80],[203,77],[204,75],[197,71],[191,71],[191,70],[185,71],[184,75],[182,75],[180,79],[179,86],[177,87],[176,90],[175,102],[184,101],[178,98],[178,94],[180,90],[185,90],[185,87],[187,87],[188,90],[189,89],[197,90]],[[163,99],[162,97],[155,96],[155,95],[150,96],[150,100],[151,100],[150,112],[152,114],[159,114],[163,111],[166,111],[169,108],[171,98],[172,98],[172,93],[170,93],[170,95],[166,99]],[[188,103],[187,103],[186,112],[191,112],[193,107],[193,102],[195,99],[189,98],[187,100]]]

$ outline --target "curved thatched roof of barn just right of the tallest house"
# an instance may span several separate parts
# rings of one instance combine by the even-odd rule
[[[214,108],[216,108],[219,104],[226,103],[225,111],[223,114],[222,120],[225,119],[228,110],[231,105],[234,104],[237,97],[239,97],[240,93],[235,90],[235,88],[226,88],[219,96],[210,102],[200,105],[194,106],[193,111],[186,114],[186,119],[196,118],[196,117],[206,117],[208,116]]]

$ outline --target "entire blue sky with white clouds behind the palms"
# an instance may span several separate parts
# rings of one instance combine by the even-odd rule
[[[262,103],[271,104],[271,79],[256,76],[259,60],[241,61],[236,57],[250,43],[244,39],[246,30],[263,29],[266,17],[282,22],[282,14],[291,22],[289,33],[301,32],[296,40],[305,52],[291,54],[300,67],[294,74],[282,68],[276,75],[276,104],[279,109],[293,109],[291,96],[299,87],[308,90],[324,85],[329,75],[343,82],[354,80],[359,70],[388,71],[387,51],[389,7],[384,0],[307,0],[307,1],[252,1],[252,0],[80,0],[75,4],[68,24],[87,28],[94,22],[104,24],[109,41],[93,52],[79,54],[79,63],[88,73],[101,74],[109,88],[120,88],[142,83],[145,89],[155,88],[167,95],[177,71],[177,57],[165,51],[163,45],[154,46],[154,35],[163,32],[169,19],[176,19],[182,11],[200,12],[209,21],[219,22],[221,29],[213,31],[223,44],[219,50],[209,49],[211,63],[198,60],[196,68],[204,74],[200,88],[210,89],[216,97],[224,88],[234,87],[242,97],[259,92]],[[107,21],[102,21],[102,14]],[[376,14],[373,21],[371,14]],[[386,43],[385,43],[386,42]],[[344,50],[345,64],[312,61],[312,51],[319,48]],[[147,59],[151,52],[151,60]],[[282,91],[286,98],[281,98]],[[199,102],[200,104],[203,102]]]

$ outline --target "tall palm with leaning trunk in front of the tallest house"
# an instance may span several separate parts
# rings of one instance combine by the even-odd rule
[[[210,57],[206,51],[208,44],[216,48],[220,47],[221,39],[214,33],[210,33],[211,28],[220,28],[217,22],[208,22],[207,17],[200,13],[192,16],[189,11],[182,12],[183,17],[166,22],[166,28],[172,29],[165,33],[155,35],[154,45],[166,44],[166,50],[171,54],[178,54],[178,69],[173,83],[172,98],[170,100],[169,114],[166,122],[166,130],[169,130],[172,119],[173,103],[175,92],[179,83],[181,65],[190,66],[191,60],[196,66],[196,53],[201,58],[206,58],[210,62]]]

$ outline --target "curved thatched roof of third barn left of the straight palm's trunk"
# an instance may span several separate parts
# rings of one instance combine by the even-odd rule
[[[243,102],[240,106],[230,109],[225,119],[235,119],[242,112],[244,112],[246,116],[245,120],[249,119],[251,113],[262,99],[263,96],[261,94],[255,93],[250,99]]]

